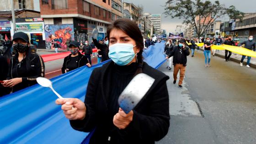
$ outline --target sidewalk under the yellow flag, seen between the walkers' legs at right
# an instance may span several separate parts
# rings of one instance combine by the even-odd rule
[[[200,50],[203,51],[203,48],[200,48]],[[220,50],[220,51],[216,50],[215,56],[221,57],[225,61],[225,50]],[[242,59],[242,55],[238,55],[236,53],[232,53],[232,55],[229,58],[229,60],[237,62],[238,65],[240,64],[241,59]],[[247,56],[244,59],[243,66],[245,66],[246,63],[247,63]],[[250,66],[251,66],[251,68],[255,68],[256,69],[256,58],[251,57]]]

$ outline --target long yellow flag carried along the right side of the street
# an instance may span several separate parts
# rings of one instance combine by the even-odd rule
[[[203,47],[203,43],[196,43],[198,47]],[[213,45],[212,49],[218,49],[218,50],[228,50],[233,53],[238,53],[242,55],[246,55],[249,57],[255,57],[256,58],[256,52],[249,50],[247,48],[242,48],[242,47],[236,47],[236,46],[230,46],[230,45]]]

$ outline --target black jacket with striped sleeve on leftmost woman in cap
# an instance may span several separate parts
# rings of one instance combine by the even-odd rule
[[[37,77],[44,77],[44,62],[40,55],[30,53],[21,62],[18,60],[18,54],[12,57],[7,80],[22,78],[22,82],[15,85],[12,92],[37,84]]]

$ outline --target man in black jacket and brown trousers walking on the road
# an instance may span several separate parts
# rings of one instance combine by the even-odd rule
[[[180,70],[180,80],[179,80],[179,87],[182,88],[182,81],[185,75],[186,65],[187,65],[187,56],[189,55],[188,47],[185,45],[186,41],[185,39],[181,39],[179,41],[179,44],[173,48],[171,53],[168,54],[168,56],[165,59],[169,59],[171,56],[173,56],[173,65],[174,65],[174,71],[173,71],[173,84],[176,84],[177,80],[177,74]]]

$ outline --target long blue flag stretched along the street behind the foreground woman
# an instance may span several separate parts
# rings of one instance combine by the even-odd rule
[[[144,61],[157,69],[165,62],[165,43],[156,43],[144,50]],[[52,80],[53,88],[64,98],[84,101],[91,68],[75,69]],[[71,128],[57,96],[40,85],[0,97],[0,144],[80,144],[88,133]]]

